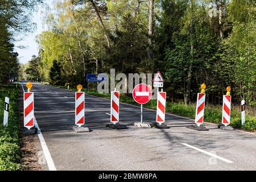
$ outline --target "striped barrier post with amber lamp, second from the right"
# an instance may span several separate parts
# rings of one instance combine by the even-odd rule
[[[205,88],[206,85],[202,84],[201,93],[197,93],[195,118],[195,123],[197,124],[197,126],[200,126],[204,122]]]

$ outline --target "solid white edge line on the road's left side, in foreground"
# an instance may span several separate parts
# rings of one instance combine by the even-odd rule
[[[41,132],[39,126],[38,126],[38,122],[36,122],[36,118],[35,118],[35,127],[38,128],[38,137],[39,137],[39,140],[40,140],[43,152],[44,152],[44,156],[46,158],[46,162],[47,162],[49,171],[56,171],[56,167],[55,167],[55,164],[54,164],[54,162],[52,160],[52,156],[51,156],[51,154],[49,152],[49,149],[47,147],[46,141],[44,140],[43,134],[42,134],[42,132]]]

